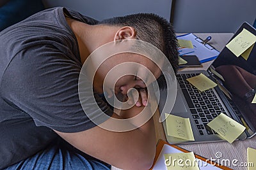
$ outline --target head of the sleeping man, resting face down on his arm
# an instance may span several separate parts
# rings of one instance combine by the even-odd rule
[[[99,27],[100,30],[98,31],[98,34],[100,31],[103,31],[102,34],[100,34],[100,39],[98,39],[101,40],[101,43],[99,43],[99,45],[102,45],[102,43],[110,43],[110,41],[116,40],[120,40],[116,41],[116,43],[127,42],[125,39],[142,40],[156,46],[159,50],[161,50],[161,52],[163,52],[166,58],[169,60],[170,64],[172,64],[173,70],[175,72],[177,71],[179,55],[177,52],[177,39],[175,37],[172,25],[170,25],[170,23],[167,22],[164,18],[154,14],[139,13],[134,15],[127,15],[125,17],[109,18],[106,20],[102,20],[98,24],[101,25]],[[134,52],[138,51],[138,49],[139,51],[145,49],[143,43],[137,42],[129,45],[129,50],[132,50],[132,52]],[[140,46],[141,44],[142,46]],[[106,49],[106,53],[109,53],[109,51],[111,51],[111,48],[112,47],[110,46],[108,49]],[[155,50],[155,52],[156,51],[157,50]],[[156,58],[159,56],[163,57],[163,55],[155,55],[154,50],[152,50],[152,53],[150,53],[150,55],[151,57]],[[141,73],[145,73],[145,70],[141,71],[143,70],[143,66],[147,67],[147,69],[154,74],[154,78],[156,78],[157,82],[159,83],[164,80],[163,76],[160,76],[161,67],[163,66],[163,64],[168,64],[166,60],[162,59],[161,57],[157,59],[157,63],[160,64],[159,67],[157,67],[156,64],[152,62],[152,60],[147,59],[147,57],[145,56],[143,57],[136,53],[119,53],[118,55],[110,57],[108,60],[105,60],[104,63],[99,67],[94,77],[93,87],[97,92],[102,92],[103,83],[105,82],[106,84],[104,85],[104,87],[107,87],[109,89],[108,92],[122,92],[122,94],[127,94],[128,90],[132,87],[145,88],[146,81],[144,80],[144,78],[147,78],[148,74],[147,76],[145,74],[141,75]],[[130,72],[126,72],[127,74],[124,76],[119,75],[119,73],[124,72],[124,67],[119,67],[119,71],[116,71],[115,69],[115,74],[112,72],[111,74],[109,74],[109,71],[111,71],[113,67],[117,66],[118,64],[123,64],[125,62],[140,63],[143,66],[134,68],[127,67],[127,71],[129,70]],[[106,78],[107,74],[111,75],[109,81],[104,79]],[[161,78],[159,78],[159,76]]]

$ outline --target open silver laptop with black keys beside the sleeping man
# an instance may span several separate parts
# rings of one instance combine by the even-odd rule
[[[243,29],[256,35],[255,28],[244,22],[230,41],[236,38]],[[220,113],[224,113],[246,127],[237,140],[252,138],[256,134],[256,104],[252,104],[256,90],[256,45],[252,47],[247,57],[247,60],[241,55],[236,57],[225,46],[206,71],[179,71],[177,73],[177,97],[172,111],[164,107],[168,89],[160,90],[159,112],[161,115],[170,113],[189,118],[195,138],[195,141],[186,141],[168,136],[164,121],[164,133],[169,143],[224,141],[207,126],[207,123],[218,117]],[[200,92],[186,80],[200,73],[205,74],[218,86]]]

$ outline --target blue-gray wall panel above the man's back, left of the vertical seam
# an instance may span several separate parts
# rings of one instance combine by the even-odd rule
[[[46,7],[65,6],[102,20],[131,13],[156,13],[170,20],[172,0],[43,0]]]

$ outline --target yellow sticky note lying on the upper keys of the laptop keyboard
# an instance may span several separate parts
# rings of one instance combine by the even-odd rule
[[[216,87],[216,83],[214,83],[211,79],[207,78],[204,74],[199,74],[198,76],[194,76],[187,79],[189,83],[194,85],[196,89],[203,92],[204,90],[211,89],[212,87]]]

